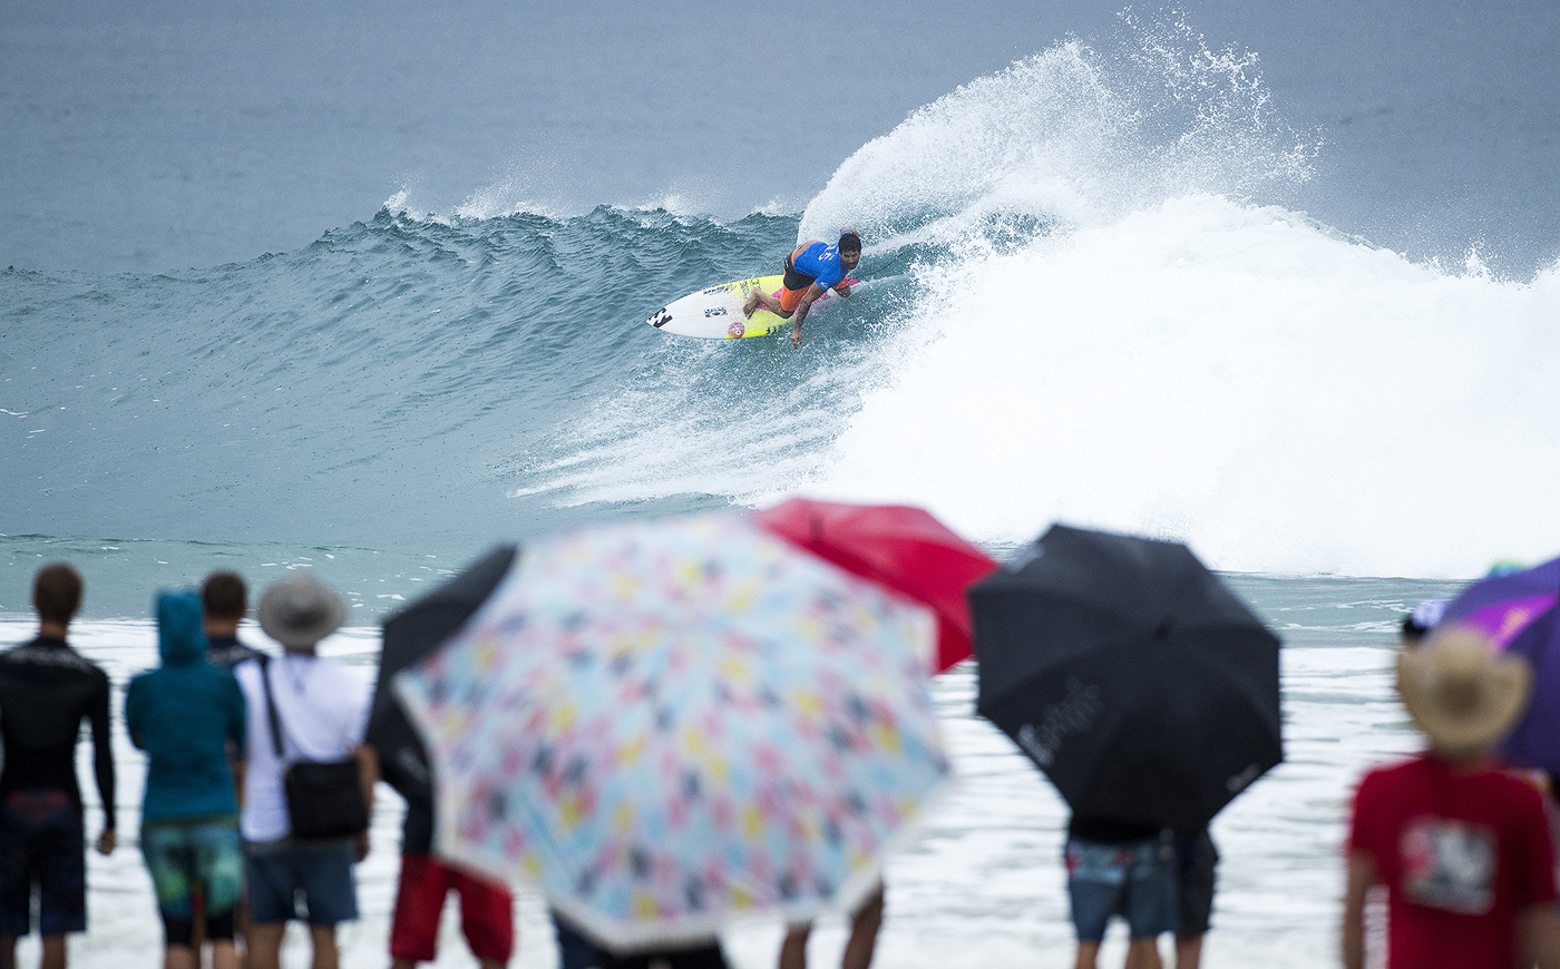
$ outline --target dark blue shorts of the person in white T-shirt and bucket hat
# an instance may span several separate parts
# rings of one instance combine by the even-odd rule
[[[250,922],[270,925],[298,919],[335,925],[357,918],[357,885],[351,841],[300,844],[271,841],[245,846]]]

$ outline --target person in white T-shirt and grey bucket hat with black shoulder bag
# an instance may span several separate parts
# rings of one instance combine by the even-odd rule
[[[368,855],[368,833],[345,841],[292,838],[282,771],[296,758],[359,763],[363,802],[373,804],[374,755],[363,746],[368,683],[343,663],[320,658],[320,640],[346,618],[346,605],[312,574],[276,582],[261,598],[261,629],[282,644],[273,660],[240,663],[234,674],[248,704],[248,765],[242,829],[250,893],[250,969],[278,969],[290,919],[309,924],[314,969],[335,969],[335,925],[357,918],[353,864]],[[267,682],[285,758],[270,743]]]

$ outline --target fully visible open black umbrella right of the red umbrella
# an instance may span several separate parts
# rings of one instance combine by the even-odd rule
[[[1058,524],[969,596],[978,710],[1075,815],[1195,832],[1284,758],[1278,637],[1184,545]]]

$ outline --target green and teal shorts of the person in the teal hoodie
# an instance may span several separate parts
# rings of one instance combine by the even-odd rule
[[[243,849],[237,818],[150,821],[140,827],[140,857],[165,919],[190,919],[195,893],[206,914],[231,911],[243,891]]]

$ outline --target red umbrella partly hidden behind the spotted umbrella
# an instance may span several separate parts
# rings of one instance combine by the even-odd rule
[[[970,657],[964,590],[997,562],[925,510],[792,498],[753,516],[786,541],[931,609],[938,673]]]

